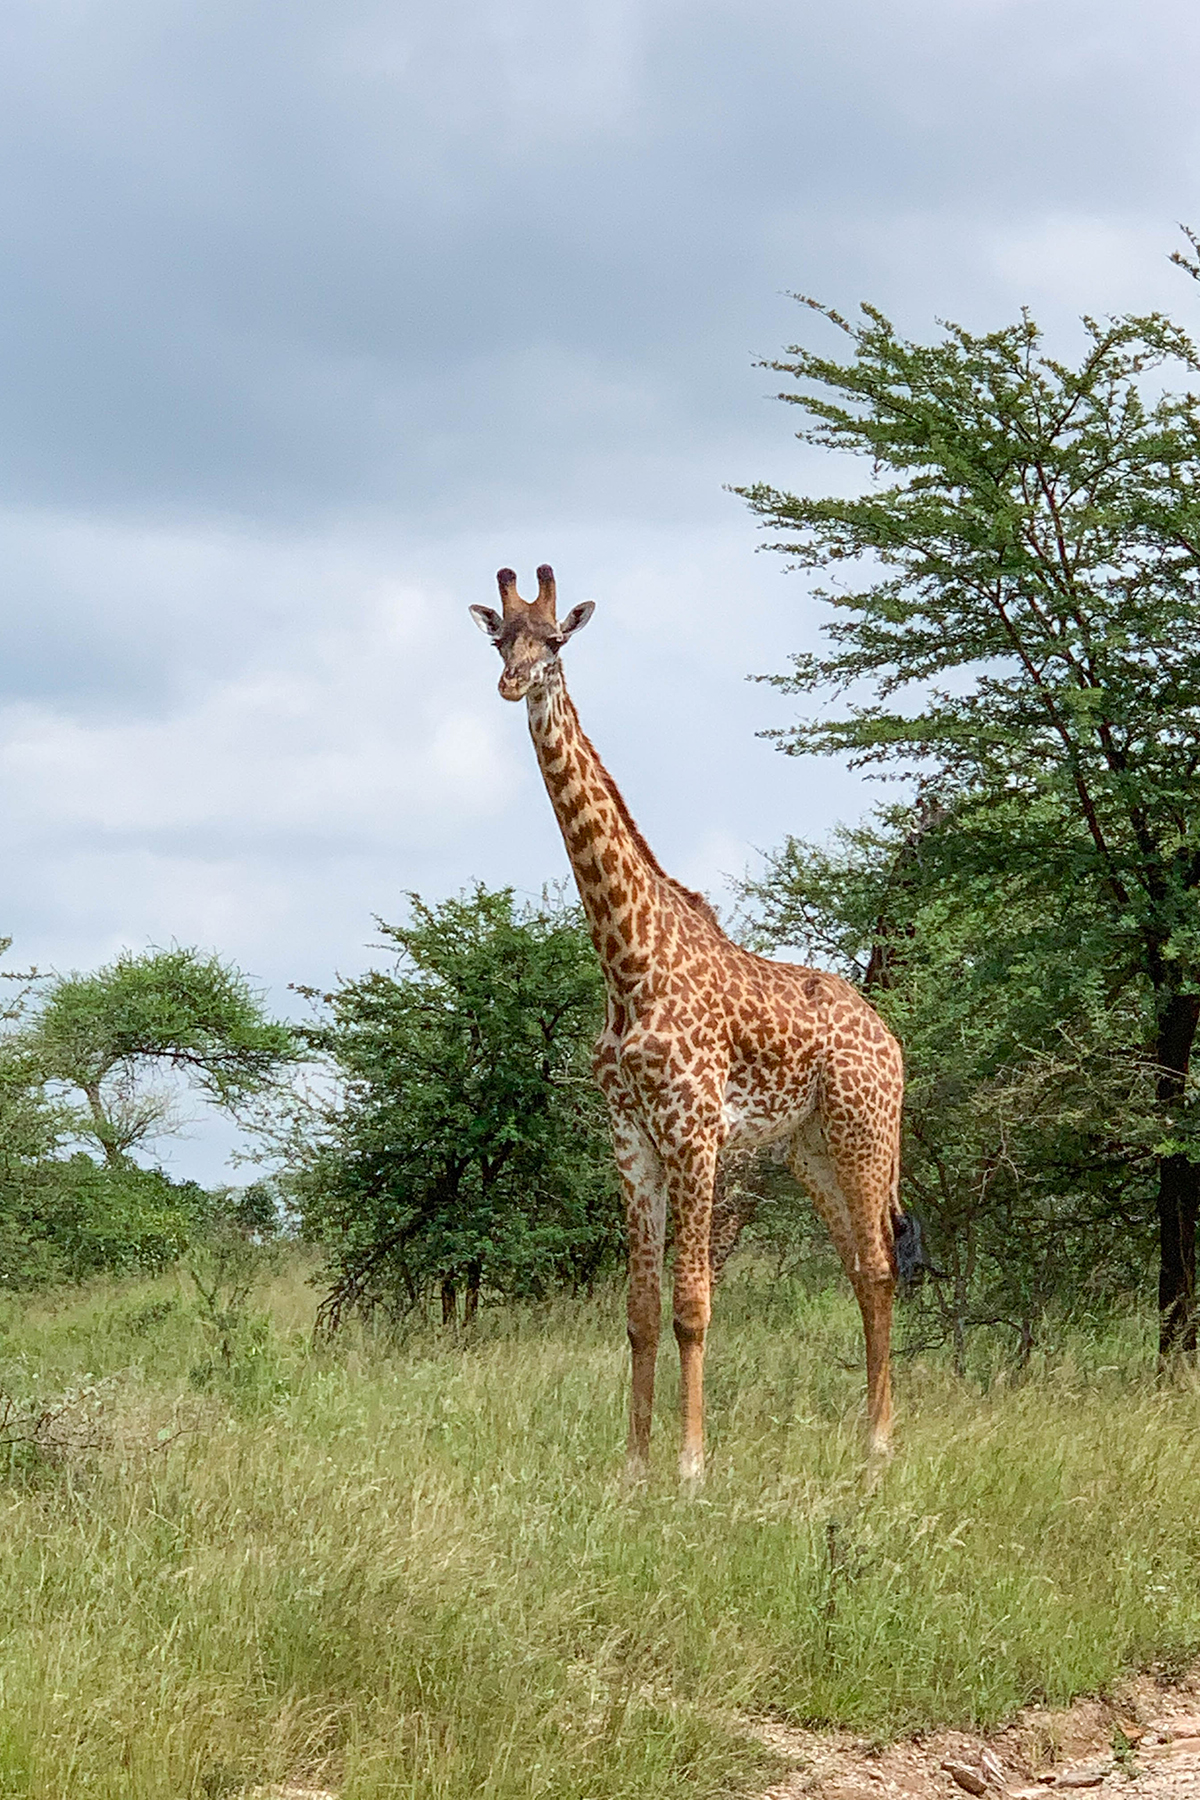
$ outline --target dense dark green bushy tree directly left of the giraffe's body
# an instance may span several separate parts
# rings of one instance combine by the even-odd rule
[[[405,1310],[441,1289],[587,1285],[621,1222],[590,1049],[603,981],[574,907],[518,907],[509,889],[381,925],[394,972],[322,995],[311,1048],[345,1084],[295,1199],[329,1251],[329,1321]]]

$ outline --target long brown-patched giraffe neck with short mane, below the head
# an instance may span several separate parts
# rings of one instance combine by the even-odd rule
[[[676,884],[658,868],[585,736],[561,664],[529,691],[529,734],[608,986],[626,995],[646,977],[662,931],[671,929]]]

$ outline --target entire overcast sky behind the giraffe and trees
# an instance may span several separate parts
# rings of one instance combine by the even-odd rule
[[[1198,77],[1186,0],[7,0],[9,961],[201,943],[286,1010],[407,889],[563,875],[500,563],[597,601],[572,691],[685,882],[858,814],[756,738],[819,619],[725,484],[846,479],[756,356],[793,290],[1200,326]]]

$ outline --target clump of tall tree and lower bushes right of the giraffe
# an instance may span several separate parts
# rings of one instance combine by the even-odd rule
[[[1160,315],[1085,320],[1078,364],[1027,315],[846,360],[772,364],[849,497],[747,488],[772,547],[826,574],[826,644],[770,677],[777,734],[909,774],[831,848],[750,886],[759,941],[856,974],[912,1071],[907,1192],[954,1274],[959,1343],[1022,1346],[1079,1283],[1139,1280],[1159,1348],[1196,1348],[1200,1139],[1200,351]],[[842,700],[840,713],[829,702]]]

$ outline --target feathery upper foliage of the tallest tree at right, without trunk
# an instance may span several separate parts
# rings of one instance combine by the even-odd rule
[[[838,614],[833,652],[797,655],[774,680],[790,693],[867,680],[889,700],[963,677],[914,707],[853,706],[781,742],[856,763],[936,758],[943,787],[1020,794],[1038,846],[1058,848],[1047,812],[1078,815],[1085,837],[1096,815],[1103,842],[1087,853],[1142,891],[1135,814],[1164,848],[1187,835],[1200,733],[1200,646],[1180,630],[1196,619],[1200,414],[1191,396],[1144,392],[1168,362],[1200,367],[1195,346],[1159,315],[1085,320],[1074,371],[1042,353],[1029,317],[918,346],[873,308],[856,328],[817,311],[847,333],[853,362],[797,347],[772,364],[804,383],[781,398],[813,418],[804,441],[869,457],[878,479],[858,499],[743,491],[801,567],[864,563],[869,580],[819,590]],[[1159,918],[1148,893],[1146,909]]]

